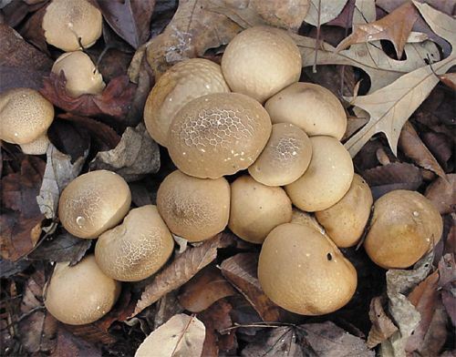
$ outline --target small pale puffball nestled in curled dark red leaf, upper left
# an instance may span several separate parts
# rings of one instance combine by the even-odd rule
[[[52,72],[59,75],[61,71],[67,78],[66,89],[71,97],[100,94],[105,87],[97,67],[82,51],[68,52],[59,56],[52,66]]]

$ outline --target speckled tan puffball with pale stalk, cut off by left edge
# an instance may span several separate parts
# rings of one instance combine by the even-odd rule
[[[47,128],[54,107],[35,89],[14,88],[0,94],[0,139],[21,146],[25,154],[46,154]]]

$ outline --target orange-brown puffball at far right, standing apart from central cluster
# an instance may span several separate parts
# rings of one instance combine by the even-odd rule
[[[364,248],[382,268],[408,268],[437,244],[442,230],[440,213],[429,199],[398,189],[375,202]]]

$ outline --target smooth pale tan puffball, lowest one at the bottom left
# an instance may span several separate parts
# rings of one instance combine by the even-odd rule
[[[84,325],[107,314],[120,289],[119,281],[107,277],[89,255],[72,267],[68,262],[56,264],[45,287],[45,306],[58,321]]]

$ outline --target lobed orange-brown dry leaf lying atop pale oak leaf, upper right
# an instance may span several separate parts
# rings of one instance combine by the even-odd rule
[[[353,32],[338,44],[336,52],[354,44],[389,40],[393,43],[396,54],[400,58],[417,18],[418,12],[415,6],[407,2],[378,21],[353,26]]]

